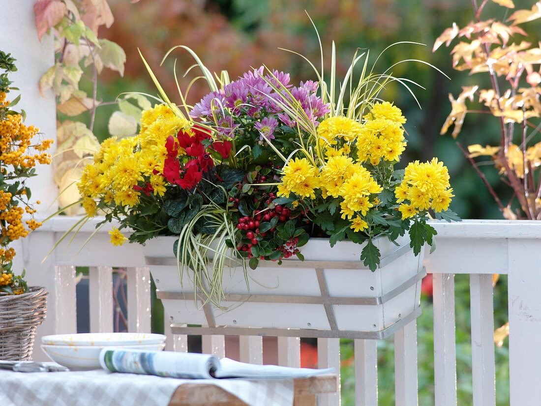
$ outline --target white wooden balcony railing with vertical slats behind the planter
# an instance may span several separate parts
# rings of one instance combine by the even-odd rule
[[[87,223],[69,247],[65,242],[49,253],[73,218],[56,217],[21,241],[19,264],[32,281],[50,291],[48,319],[39,335],[76,331],[76,266],[90,267],[91,331],[112,331],[113,267],[128,270],[128,324],[130,331],[150,331],[150,275],[140,246],[114,247],[103,229]],[[433,274],[434,382],[436,406],[457,404],[454,275],[470,275],[473,405],[494,406],[494,343],[492,274],[508,275],[510,323],[511,406],[541,404],[541,222],[476,221],[436,222],[437,249],[426,256]],[[78,252],[80,251],[80,252]],[[22,265],[22,264],[21,264]],[[166,317],[166,324],[167,324]],[[167,331],[166,326],[166,331]],[[168,349],[187,351],[186,336],[169,334]],[[39,340],[39,337],[38,337]],[[39,341],[38,341],[39,342]],[[417,396],[417,329],[415,322],[395,334],[395,398],[397,405],[413,406]],[[203,337],[203,351],[225,354],[223,336]],[[375,341],[355,340],[355,397],[357,405],[377,405],[377,349]],[[262,362],[261,337],[240,337],[240,357]],[[320,367],[339,370],[339,340],[320,338]],[[43,358],[36,348],[36,358]],[[299,366],[299,338],[280,337],[278,362]],[[384,388],[390,390],[390,388]],[[339,394],[325,395],[321,405],[338,405]]]

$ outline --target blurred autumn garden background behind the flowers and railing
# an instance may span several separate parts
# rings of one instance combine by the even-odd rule
[[[517,9],[528,8],[533,0],[516,0]],[[441,32],[456,22],[459,27],[472,21],[470,0],[142,0],[130,4],[126,0],[109,0],[115,22],[101,36],[122,46],[127,54],[126,73],[119,78],[115,72],[101,76],[99,95],[105,101],[113,100],[126,91],[156,94],[138,55],[141,50],[153,67],[156,76],[166,88],[171,99],[180,102],[174,81],[173,62],[177,60],[177,75],[181,87],[186,86],[196,74],[184,71],[194,61],[186,51],[177,49],[160,66],[162,57],[175,45],[192,48],[211,71],[229,71],[231,78],[241,75],[250,66],[266,64],[269,68],[283,70],[292,75],[292,82],[315,79],[310,66],[297,55],[280,50],[286,48],[306,56],[319,66],[318,37],[308,15],[318,29],[325,52],[326,68],[331,61],[331,43],[335,42],[338,56],[338,76],[343,76],[355,50],[370,50],[371,61],[388,45],[399,41],[426,44],[400,44],[388,49],[375,66],[383,72],[404,59],[420,59],[436,66],[451,79],[421,63],[401,63],[392,74],[419,83],[425,89],[415,89],[421,109],[406,89],[391,84],[382,95],[394,101],[408,121],[408,148],[403,163],[411,159],[443,160],[451,173],[451,183],[456,197],[451,209],[463,218],[502,218],[497,205],[469,162],[455,144],[451,135],[440,135],[441,125],[451,110],[448,94],[457,96],[461,86],[478,84],[489,88],[485,74],[473,76],[454,71],[450,49],[445,46],[432,53],[432,45]],[[484,18],[505,20],[510,11],[487,2]],[[523,28],[539,41],[539,22],[524,24]],[[197,81],[189,93],[188,103],[195,104],[208,92],[204,81]],[[102,107],[98,114],[105,119],[97,123],[98,138],[109,136],[107,118],[114,107]],[[466,117],[459,141],[470,144],[496,145],[499,137],[498,122],[491,115]],[[497,171],[487,162],[481,167],[498,195],[507,201],[511,192],[499,181]],[[506,280],[500,279],[494,290],[496,327],[507,318]],[[430,295],[423,296],[424,314],[419,326],[419,404],[431,405],[433,398],[433,332],[432,303]],[[458,404],[472,404],[471,343],[469,320],[469,281],[467,276],[457,276],[457,375]],[[394,404],[393,398],[393,342],[378,343],[380,404]],[[342,343],[342,404],[353,405],[353,346]],[[509,404],[509,363],[506,345],[496,348],[497,404]]]

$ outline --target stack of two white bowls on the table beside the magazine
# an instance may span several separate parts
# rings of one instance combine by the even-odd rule
[[[43,336],[41,348],[51,358],[70,370],[100,369],[103,348],[131,348],[161,351],[166,336],[138,332],[96,332]]]

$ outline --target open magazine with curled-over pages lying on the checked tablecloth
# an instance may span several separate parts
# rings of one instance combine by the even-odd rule
[[[289,368],[278,365],[246,364],[210,354],[172,351],[141,351],[104,348],[100,364],[111,372],[157,375],[173,378],[256,378],[283,379],[308,378],[330,374],[333,368]]]

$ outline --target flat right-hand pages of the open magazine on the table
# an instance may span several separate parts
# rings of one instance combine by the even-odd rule
[[[310,369],[289,368],[279,365],[254,365],[222,358],[220,368],[216,370],[216,378],[309,378],[315,375],[332,374],[334,368]]]

